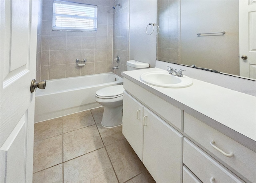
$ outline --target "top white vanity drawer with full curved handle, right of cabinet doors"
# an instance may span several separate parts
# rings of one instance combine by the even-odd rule
[[[256,153],[184,112],[184,133],[243,179],[256,182]],[[212,145],[210,144],[212,142]],[[213,146],[223,152],[216,150]],[[224,153],[227,153],[224,155]],[[233,153],[234,155],[232,155]],[[229,154],[229,155],[228,155]],[[232,157],[227,157],[232,156]],[[240,174],[240,175],[239,175]],[[246,181],[247,181],[246,180]]]

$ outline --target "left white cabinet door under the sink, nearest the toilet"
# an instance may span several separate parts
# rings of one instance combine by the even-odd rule
[[[124,91],[123,134],[141,161],[143,157],[143,107]]]

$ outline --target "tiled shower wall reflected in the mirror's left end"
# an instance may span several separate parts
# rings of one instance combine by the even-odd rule
[[[157,1],[157,60],[179,63],[180,57],[180,0]]]

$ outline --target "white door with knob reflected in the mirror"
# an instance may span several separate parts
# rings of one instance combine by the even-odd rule
[[[240,76],[256,79],[256,0],[239,0],[239,52]]]

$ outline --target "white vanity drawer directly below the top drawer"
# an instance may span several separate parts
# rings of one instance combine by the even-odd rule
[[[184,164],[202,182],[243,182],[187,138],[184,138],[183,155]]]

